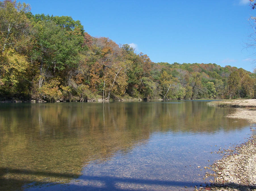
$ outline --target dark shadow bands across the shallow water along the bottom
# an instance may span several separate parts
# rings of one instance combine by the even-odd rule
[[[18,180],[18,179],[5,179],[2,178],[4,174],[6,173],[16,173],[16,174],[29,174],[29,175],[41,175],[45,177],[58,177],[58,178],[75,178],[77,177],[75,174],[69,174],[69,173],[54,173],[54,172],[37,172],[32,170],[26,170],[26,169],[10,169],[10,168],[0,168],[0,190],[2,188],[6,189],[6,185],[9,184],[9,190],[17,190],[21,187],[16,187],[12,185],[12,183],[15,183],[15,185],[24,185],[26,188],[30,188],[30,186],[35,186],[36,180]],[[91,185],[92,182],[97,184]],[[32,183],[32,184],[31,184]],[[121,184],[121,185],[120,185]],[[72,190],[140,190],[142,188],[141,186],[144,186],[144,188],[150,187],[151,189],[156,188],[158,190],[159,186],[175,186],[175,187],[184,187],[188,185],[199,185],[200,182],[183,182],[183,181],[162,181],[162,180],[149,180],[149,179],[136,179],[136,178],[127,178],[127,177],[114,177],[114,176],[86,176],[82,175],[82,177],[79,179],[79,181],[73,181],[69,184],[58,184],[52,185],[51,182],[42,181],[42,182],[36,182],[36,185],[39,186],[47,186],[44,187],[43,190],[51,190],[50,185],[52,186],[64,186],[67,187],[67,189]],[[100,185],[100,186],[99,186]],[[1,188],[2,187],[2,188]],[[128,187],[128,188],[127,188]],[[24,188],[24,187],[23,187]],[[55,188],[53,188],[55,189]],[[62,188],[63,189],[63,188]],[[33,189],[32,189],[33,190]]]

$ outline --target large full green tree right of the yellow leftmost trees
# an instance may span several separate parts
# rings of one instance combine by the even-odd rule
[[[83,34],[74,28],[63,28],[54,21],[38,21],[33,25],[36,39],[32,58],[39,62],[39,88],[45,78],[72,69],[79,62]],[[68,30],[66,30],[68,29]]]

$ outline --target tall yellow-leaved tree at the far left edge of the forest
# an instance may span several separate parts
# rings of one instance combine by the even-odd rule
[[[29,95],[28,50],[30,6],[16,1],[0,2],[0,91],[1,95]]]

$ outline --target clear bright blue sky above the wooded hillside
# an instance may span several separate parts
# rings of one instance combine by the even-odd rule
[[[25,0],[33,14],[71,16],[88,34],[130,44],[153,62],[215,63],[253,71],[249,0]]]

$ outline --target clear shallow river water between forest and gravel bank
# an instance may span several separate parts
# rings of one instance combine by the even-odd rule
[[[1,104],[0,190],[199,185],[197,166],[221,157],[211,152],[251,134],[246,121],[223,117],[232,108],[206,103]]]

